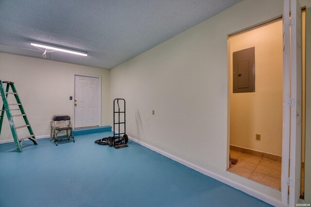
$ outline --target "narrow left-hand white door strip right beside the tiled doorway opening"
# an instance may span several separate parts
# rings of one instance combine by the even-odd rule
[[[288,205],[288,178],[290,157],[290,2],[284,0],[283,9],[283,131],[282,131],[282,203]]]

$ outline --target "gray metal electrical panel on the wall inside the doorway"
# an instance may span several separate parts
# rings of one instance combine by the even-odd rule
[[[255,47],[233,52],[233,93],[255,92]]]

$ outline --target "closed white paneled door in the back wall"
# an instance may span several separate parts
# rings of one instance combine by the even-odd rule
[[[74,127],[100,125],[99,78],[74,76]]]

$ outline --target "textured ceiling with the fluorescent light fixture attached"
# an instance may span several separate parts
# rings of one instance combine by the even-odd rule
[[[42,58],[29,41],[88,53],[47,59],[111,69],[241,0],[0,0],[0,52]]]

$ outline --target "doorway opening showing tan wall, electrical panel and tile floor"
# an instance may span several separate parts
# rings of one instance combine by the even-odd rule
[[[281,190],[282,36],[282,20],[277,19],[228,38],[230,157],[237,159],[228,171],[277,191]]]

